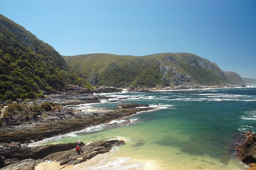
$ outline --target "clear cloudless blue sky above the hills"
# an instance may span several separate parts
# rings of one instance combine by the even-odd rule
[[[6,1],[0,13],[61,55],[188,52],[256,78],[256,1]]]

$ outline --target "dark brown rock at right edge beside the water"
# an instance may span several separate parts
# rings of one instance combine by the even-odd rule
[[[251,135],[249,139],[236,148],[238,158],[245,164],[256,163],[256,133]]]

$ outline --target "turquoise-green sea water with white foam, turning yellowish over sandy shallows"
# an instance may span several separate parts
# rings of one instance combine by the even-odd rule
[[[122,139],[125,145],[73,169],[245,169],[234,148],[256,131],[256,88],[106,93],[114,97],[77,109],[115,108],[118,102],[149,104],[117,124],[102,124],[38,144]],[[129,125],[118,122],[131,120]]]

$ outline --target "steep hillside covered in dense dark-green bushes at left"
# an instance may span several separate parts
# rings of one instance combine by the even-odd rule
[[[92,87],[52,46],[1,14],[0,30],[0,101],[42,97],[70,83]]]

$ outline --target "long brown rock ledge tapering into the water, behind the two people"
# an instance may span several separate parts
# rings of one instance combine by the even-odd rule
[[[31,119],[34,122],[25,121],[16,125],[8,124],[3,126],[0,131],[0,142],[9,143],[13,141],[28,143],[31,140],[38,141],[61,133],[68,133],[92,125],[107,123],[140,111],[151,110],[152,107],[148,106],[137,104],[121,105],[122,108],[120,109],[98,109],[90,112],[60,107],[58,110],[55,109],[56,112],[53,110],[42,115],[37,115],[36,119]],[[15,120],[20,119],[17,117],[12,119],[12,122],[15,122]]]

